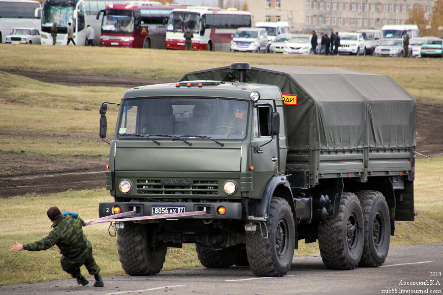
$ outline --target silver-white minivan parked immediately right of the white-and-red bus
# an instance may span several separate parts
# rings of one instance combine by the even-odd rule
[[[266,53],[268,34],[263,28],[238,28],[232,36],[230,50]]]

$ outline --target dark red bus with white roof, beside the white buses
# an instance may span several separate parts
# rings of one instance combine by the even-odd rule
[[[177,6],[152,3],[140,1],[107,5],[103,11],[100,46],[166,48],[166,24],[172,9]]]

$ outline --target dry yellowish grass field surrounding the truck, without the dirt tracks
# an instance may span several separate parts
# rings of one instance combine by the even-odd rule
[[[128,50],[91,47],[10,46],[0,44],[1,69],[39,72],[75,72],[130,77],[178,79],[185,72],[228,65],[235,61],[251,64],[303,66],[342,66],[385,74],[410,91],[417,99],[442,103],[443,59],[383,59],[372,57],[299,57],[214,52]],[[56,62],[49,62],[56,61]],[[92,62],[100,60],[100,62]],[[177,60],[177,62],[171,62]],[[57,62],[59,61],[59,62]],[[173,65],[173,66],[171,66]],[[0,72],[2,105],[0,150],[35,152],[69,156],[107,155],[109,148],[98,139],[90,142],[54,142],[34,139],[33,132],[97,132],[98,105],[106,100],[118,102],[125,89],[105,87],[54,86]],[[109,108],[108,125],[115,121],[116,110]],[[17,119],[24,118],[24,119]],[[114,121],[113,121],[114,120]],[[20,131],[20,135],[14,135]],[[397,222],[391,245],[439,242],[443,240],[443,202],[440,198],[443,158],[416,162],[415,222]],[[74,210],[85,220],[96,217],[99,202],[112,201],[105,190],[68,191],[49,196],[18,196],[0,200],[0,285],[68,278],[59,264],[57,248],[43,252],[9,253],[15,241],[31,242],[45,236],[50,223],[46,209],[59,206]],[[25,212],[25,214],[24,214]],[[32,212],[32,214],[28,214]],[[23,216],[26,215],[26,218]],[[107,234],[107,226],[85,228],[94,244],[96,259],[104,275],[124,274],[118,262],[116,238]],[[302,242],[302,241],[301,241]],[[296,255],[318,253],[316,243],[300,245]],[[170,249],[164,269],[199,265],[192,246]],[[42,269],[44,269],[42,271]]]

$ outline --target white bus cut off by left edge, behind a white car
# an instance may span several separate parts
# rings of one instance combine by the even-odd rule
[[[0,43],[18,27],[40,30],[40,2],[32,0],[0,0]]]

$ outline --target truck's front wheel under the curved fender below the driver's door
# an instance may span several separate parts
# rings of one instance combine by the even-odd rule
[[[266,227],[267,238],[259,228],[253,234],[246,234],[251,270],[257,276],[284,276],[291,266],[295,247],[294,218],[285,199],[272,198]]]

